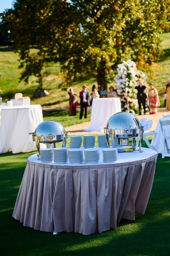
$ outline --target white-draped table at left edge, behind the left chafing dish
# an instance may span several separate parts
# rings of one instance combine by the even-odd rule
[[[1,109],[0,153],[36,151],[29,132],[34,132],[43,122],[41,105],[25,105]]]

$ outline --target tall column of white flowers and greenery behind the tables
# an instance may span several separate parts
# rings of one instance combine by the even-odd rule
[[[134,61],[123,61],[118,65],[116,82],[117,94],[121,99],[121,110],[135,114],[138,109],[135,86],[137,81],[142,78],[146,81],[146,76],[142,71],[137,70]]]

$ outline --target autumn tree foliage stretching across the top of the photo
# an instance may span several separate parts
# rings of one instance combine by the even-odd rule
[[[66,81],[88,73],[107,85],[123,60],[143,69],[159,59],[169,14],[169,0],[17,0],[1,27],[20,52],[22,79],[41,84],[45,63],[60,61]]]

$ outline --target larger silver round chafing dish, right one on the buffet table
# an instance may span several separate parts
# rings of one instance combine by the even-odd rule
[[[143,140],[143,127],[138,118],[132,113],[119,112],[112,115],[107,121],[104,133],[109,147],[109,138],[112,145],[115,145],[115,139],[118,139],[119,145],[129,145],[129,139],[132,139],[132,148],[135,150],[135,138],[140,136],[139,151],[141,152],[141,143]],[[130,151],[130,150],[129,150]]]

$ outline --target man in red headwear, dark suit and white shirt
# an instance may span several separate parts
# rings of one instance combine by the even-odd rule
[[[84,84],[82,86],[83,90],[80,92],[80,119],[82,119],[83,111],[84,111],[84,118],[87,118],[87,107],[88,107],[88,99],[89,93],[87,92],[87,86]]]

